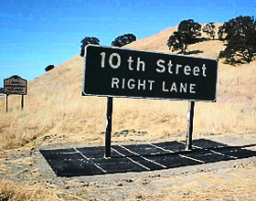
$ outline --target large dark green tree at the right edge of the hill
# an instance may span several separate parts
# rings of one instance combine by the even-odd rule
[[[224,25],[227,44],[219,58],[228,63],[250,63],[256,57],[256,21],[252,16],[238,16]]]

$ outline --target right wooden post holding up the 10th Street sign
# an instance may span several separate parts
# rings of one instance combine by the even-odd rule
[[[195,101],[189,101],[188,102],[188,110],[187,110],[186,150],[192,150],[194,109],[195,109]]]

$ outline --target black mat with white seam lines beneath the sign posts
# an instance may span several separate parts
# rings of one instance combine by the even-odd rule
[[[193,141],[193,151],[184,151],[185,142],[112,145],[112,157],[104,158],[104,147],[40,150],[57,176],[104,175],[154,171],[186,165],[207,164],[256,156],[244,146],[228,146],[209,140]]]

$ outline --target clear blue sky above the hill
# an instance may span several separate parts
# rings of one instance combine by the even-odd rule
[[[0,0],[0,87],[12,75],[32,80],[49,64],[79,55],[84,37],[111,46],[123,34],[142,39],[184,19],[255,16],[255,6],[256,0]]]

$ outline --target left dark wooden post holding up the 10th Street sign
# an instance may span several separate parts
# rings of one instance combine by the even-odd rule
[[[111,137],[112,137],[112,97],[108,97],[106,113],[106,133],[105,133],[105,157],[111,157]]]

